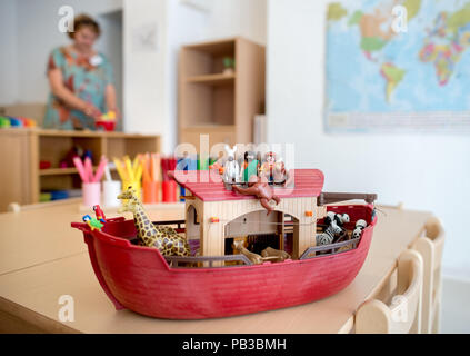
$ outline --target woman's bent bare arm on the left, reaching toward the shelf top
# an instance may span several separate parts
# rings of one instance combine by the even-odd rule
[[[83,111],[87,116],[94,119],[98,119],[101,116],[98,108],[77,97],[63,85],[62,72],[59,68],[49,70],[48,78],[52,93],[61,99],[68,107]]]

